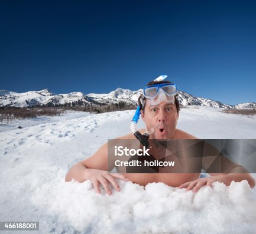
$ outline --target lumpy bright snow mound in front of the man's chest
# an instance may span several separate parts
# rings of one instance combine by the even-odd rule
[[[92,183],[44,183],[31,202],[82,233],[254,233],[255,190],[247,181],[215,182],[197,193],[150,183],[118,181],[121,192],[96,194]],[[232,210],[232,212],[231,212]]]

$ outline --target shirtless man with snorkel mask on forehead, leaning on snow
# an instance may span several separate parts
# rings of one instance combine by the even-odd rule
[[[173,91],[174,90],[174,91]],[[148,130],[154,129],[150,139],[197,139],[189,133],[176,128],[179,119],[179,101],[177,100],[177,87],[170,81],[151,81],[144,88],[138,99],[142,120]],[[143,133],[143,130],[139,130]],[[135,139],[134,134],[119,137],[118,139]],[[239,165],[238,165],[239,167]],[[145,186],[148,183],[163,182],[168,186],[186,188],[197,192],[202,186],[211,186],[219,181],[227,186],[234,180],[241,182],[247,180],[249,186],[255,186],[254,178],[244,173],[244,169],[233,170],[232,174],[215,173],[210,177],[199,178],[200,173],[108,173],[108,144],[104,144],[88,159],[75,164],[66,175],[66,182],[72,179],[77,182],[90,180],[97,193],[101,193],[99,185],[102,184],[106,192],[111,195],[110,184],[120,191],[116,179],[131,180],[133,183]],[[241,169],[242,168],[242,169]]]

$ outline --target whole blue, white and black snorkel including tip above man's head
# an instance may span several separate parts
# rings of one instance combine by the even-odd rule
[[[167,75],[160,75],[160,77],[157,77],[154,81],[161,81],[164,80],[167,77]],[[131,132],[132,134],[134,134],[134,136],[136,137],[136,139],[138,139],[138,141],[140,141],[140,143],[142,144],[142,146],[145,146],[146,148],[148,148],[148,139],[150,138],[150,135],[153,133],[154,128],[152,128],[150,131],[147,129],[147,127],[144,128],[144,133],[141,134],[140,131],[137,131],[137,123],[138,120],[140,119],[140,106],[137,107],[137,110],[134,114],[134,117],[132,118],[131,121]]]

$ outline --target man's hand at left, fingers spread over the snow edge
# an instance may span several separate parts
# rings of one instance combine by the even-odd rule
[[[112,186],[115,188],[116,191],[120,191],[121,189],[115,179],[128,181],[128,179],[123,174],[118,174],[118,173],[109,174],[105,170],[97,170],[97,169],[86,169],[85,178],[86,180],[90,180],[92,182],[96,193],[101,193],[101,190],[99,189],[99,185],[102,184],[102,186],[106,190],[106,193],[108,193],[109,195],[112,194],[111,189],[109,187],[109,183],[112,184]]]

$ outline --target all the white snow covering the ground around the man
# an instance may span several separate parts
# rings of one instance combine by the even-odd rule
[[[255,233],[256,189],[246,181],[197,193],[118,181],[121,192],[111,196],[96,194],[89,181],[64,182],[74,163],[129,133],[134,112],[69,113],[0,127],[0,220],[39,221],[39,233]],[[255,116],[218,108],[183,108],[177,127],[204,139],[256,137]]]

